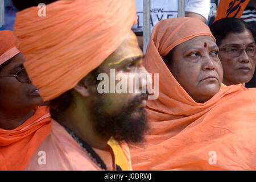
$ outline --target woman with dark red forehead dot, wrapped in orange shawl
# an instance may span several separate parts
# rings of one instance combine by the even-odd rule
[[[147,101],[150,134],[133,146],[134,170],[256,169],[256,90],[221,86],[218,47],[195,18],[160,21],[145,65],[159,73],[159,98]]]

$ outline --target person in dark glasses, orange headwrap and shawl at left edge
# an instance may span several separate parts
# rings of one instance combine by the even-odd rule
[[[51,130],[38,89],[23,68],[11,31],[0,31],[0,170],[24,170]]]

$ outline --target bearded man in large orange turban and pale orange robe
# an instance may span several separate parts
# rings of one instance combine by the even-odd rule
[[[98,84],[100,73],[147,74],[131,31],[135,20],[131,0],[56,1],[44,17],[38,7],[16,15],[16,46],[52,117],[27,170],[131,169],[126,143],[143,140],[147,93],[101,94]]]

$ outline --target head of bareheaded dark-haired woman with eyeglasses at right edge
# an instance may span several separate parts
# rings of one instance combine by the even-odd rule
[[[223,18],[210,26],[220,49],[223,84],[245,86],[255,70],[255,31],[241,19]]]

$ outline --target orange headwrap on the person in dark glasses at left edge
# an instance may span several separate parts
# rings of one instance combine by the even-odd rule
[[[15,39],[13,32],[10,30],[0,31],[0,65],[5,61],[11,59],[19,53],[19,50],[15,47]]]

